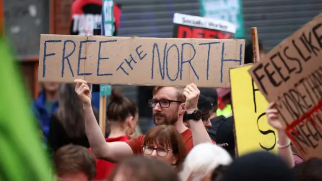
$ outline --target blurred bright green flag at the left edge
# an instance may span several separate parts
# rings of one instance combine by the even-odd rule
[[[52,180],[21,70],[0,41],[0,180]]]

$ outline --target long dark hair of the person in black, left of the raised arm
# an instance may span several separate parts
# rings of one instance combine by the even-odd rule
[[[74,84],[61,84],[58,97],[59,107],[54,115],[57,116],[68,136],[85,135],[83,105],[75,93]]]

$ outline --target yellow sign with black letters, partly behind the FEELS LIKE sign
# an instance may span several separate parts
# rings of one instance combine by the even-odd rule
[[[252,65],[229,69],[238,155],[277,152],[277,131],[267,123],[268,102],[248,73]]]

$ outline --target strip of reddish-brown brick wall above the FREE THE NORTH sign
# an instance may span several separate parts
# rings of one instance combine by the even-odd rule
[[[53,28],[51,33],[68,35],[70,24],[70,7],[73,0],[51,0],[53,3]]]

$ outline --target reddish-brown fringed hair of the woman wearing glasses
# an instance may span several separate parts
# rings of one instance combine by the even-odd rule
[[[187,156],[185,143],[181,134],[171,125],[160,125],[149,130],[144,138],[144,145],[157,144],[165,148],[171,148],[173,154],[177,156],[177,171],[182,168],[182,164]]]

